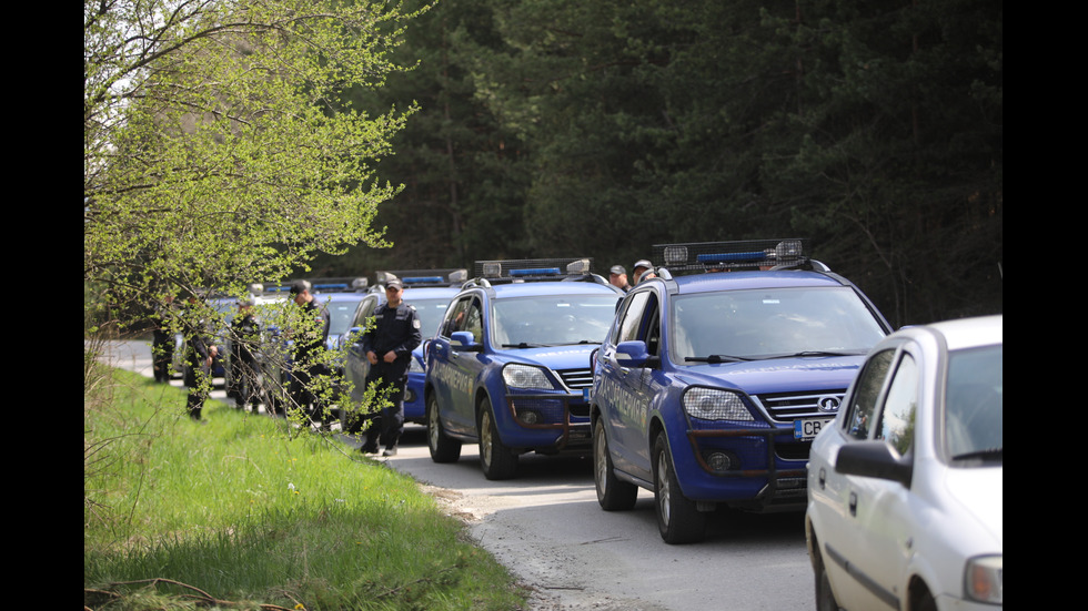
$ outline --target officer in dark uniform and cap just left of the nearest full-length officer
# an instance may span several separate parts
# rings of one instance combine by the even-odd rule
[[[291,368],[291,401],[303,410],[311,422],[321,422],[328,429],[332,415],[314,393],[313,381],[329,375],[329,367],[321,360],[329,339],[329,310],[310,293],[310,283],[299,281],[291,285],[291,297],[303,312],[303,325],[294,335],[294,363]]]

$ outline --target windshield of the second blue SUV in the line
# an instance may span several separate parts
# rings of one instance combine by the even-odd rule
[[[613,295],[543,295],[493,302],[493,342],[502,347],[600,344],[616,313]]]

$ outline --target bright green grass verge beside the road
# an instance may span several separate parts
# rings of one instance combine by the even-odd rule
[[[216,401],[197,425],[183,390],[110,375],[84,384],[89,607],[524,607],[510,573],[407,476]]]

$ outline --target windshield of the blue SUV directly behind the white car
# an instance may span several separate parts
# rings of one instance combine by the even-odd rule
[[[866,354],[884,335],[850,287],[677,295],[669,356],[677,365],[795,355]]]

